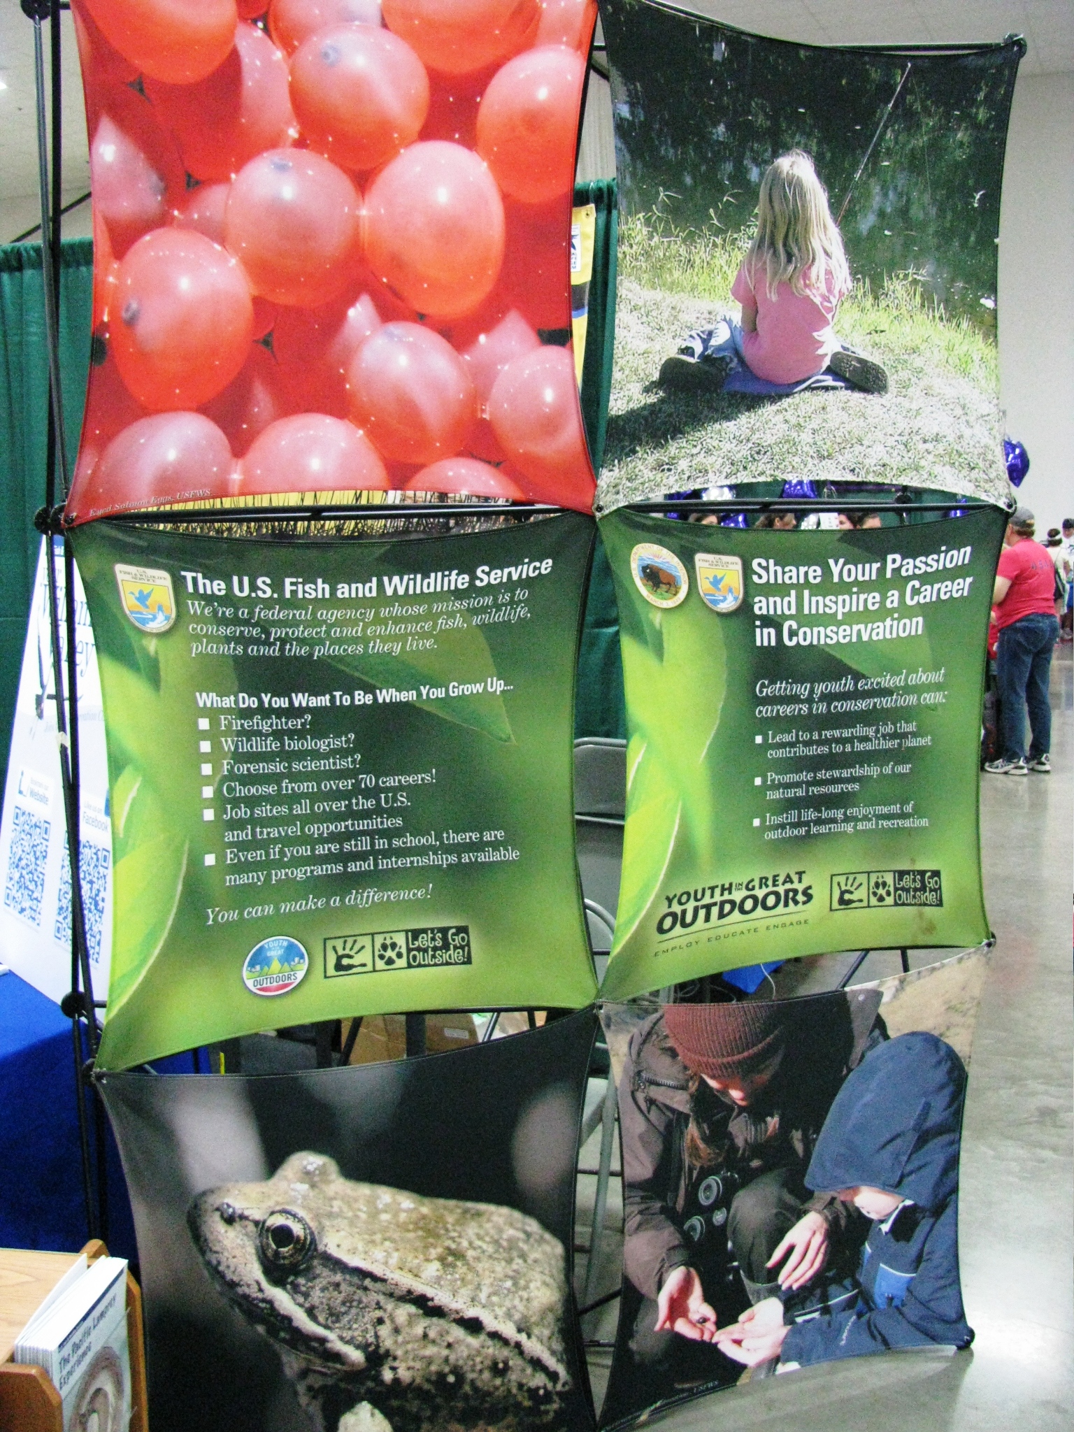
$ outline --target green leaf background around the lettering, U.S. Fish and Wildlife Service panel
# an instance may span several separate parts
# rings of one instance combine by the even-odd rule
[[[115,925],[112,979],[99,1063],[123,1068],[198,1044],[341,1015],[407,1008],[579,1007],[596,992],[577,866],[573,852],[573,684],[580,604],[594,524],[579,514],[461,537],[395,543],[263,543],[139,530],[93,523],[73,534],[76,558],[97,642],[112,786]],[[553,573],[526,586],[530,619],[445,632],[428,652],[322,659],[192,659],[180,570],[209,577],[231,573],[284,577],[321,573],[335,583],[361,573],[457,567],[473,571],[551,556]],[[172,573],[179,617],[150,636],[123,614],[116,563]],[[381,587],[382,590],[382,587]],[[495,596],[495,589],[493,590]],[[507,589],[511,590],[510,587]],[[471,586],[464,596],[471,596]],[[221,597],[252,609],[253,600]],[[395,599],[361,599],[382,609]],[[412,604],[422,599],[400,599]],[[425,599],[431,600],[431,599]],[[437,594],[435,600],[444,600]],[[269,603],[266,603],[269,604]],[[288,606],[304,603],[288,601]],[[342,607],[335,597],[315,606]],[[495,610],[495,607],[493,609]],[[473,613],[471,613],[473,616]],[[402,620],[402,619],[401,619]],[[405,642],[405,639],[404,639]],[[359,769],[435,768],[430,815],[405,829],[434,825],[503,829],[517,862],[319,876],[282,885],[278,904],[306,894],[354,886],[432,885],[428,901],[338,906],[321,912],[206,928],[206,909],[245,908],[256,889],[225,891],[222,865],[206,868],[206,839],[219,826],[202,821],[195,716],[196,692],[319,692],[348,682],[400,690],[500,677],[503,695],[384,703],[318,710],[316,733],[355,732]],[[295,715],[286,710],[284,715]],[[213,719],[213,745],[218,725]],[[213,783],[222,776],[215,760]],[[219,803],[219,802],[218,802]],[[304,843],[308,843],[304,839]],[[324,978],[324,938],[351,932],[468,924],[473,967]],[[291,994],[265,1000],[241,979],[242,959],[261,939],[289,934],[305,945],[311,967]]]

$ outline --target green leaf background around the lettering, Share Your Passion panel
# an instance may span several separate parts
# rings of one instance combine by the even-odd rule
[[[601,994],[630,998],[649,990],[693,979],[760,959],[786,959],[826,949],[899,945],[974,944],[987,935],[979,878],[978,841],[978,730],[984,676],[984,642],[991,583],[1004,517],[994,508],[975,510],[948,523],[886,527],[879,531],[833,533],[737,530],[672,521],[620,508],[601,520],[620,611],[620,643],[629,729],[627,821],[623,881],[620,885],[616,941]],[[639,541],[659,543],[673,551],[690,577],[686,600],[672,609],[646,601],[630,574],[630,553]],[[758,556],[786,564],[818,563],[828,576],[828,558],[876,561],[888,551],[904,556],[931,553],[947,543],[971,544],[972,564],[944,576],[974,573],[971,597],[947,604],[908,609],[921,613],[924,634],[879,643],[838,647],[758,649],[752,597],[788,587],[756,587],[750,560]],[[730,614],[712,611],[696,587],[697,553],[740,556],[746,571],[746,599]],[[881,590],[906,579],[884,580]],[[927,580],[927,579],[922,579]],[[938,580],[932,577],[931,580]],[[800,587],[800,584],[799,584]],[[839,590],[831,581],[825,591]],[[869,620],[888,616],[886,609]],[[765,619],[780,624],[782,619]],[[796,617],[805,624],[833,623],[835,617]],[[863,620],[849,616],[846,620]],[[932,735],[929,748],[915,748],[904,760],[914,770],[892,778],[862,780],[853,796],[815,798],[812,803],[924,802],[929,811],[927,832],[872,831],[853,835],[805,836],[763,841],[763,829],[746,825],[746,808],[755,805],[753,775],[766,760],[755,735],[768,727],[793,726],[793,720],[759,720],[755,716],[756,682],[760,677],[798,682],[839,680],[848,673],[874,677],[884,672],[945,670],[948,702],[931,707],[874,712],[862,716],[808,716],[808,727],[878,725],[912,719]],[[912,689],[912,687],[908,687]],[[884,760],[898,753],[891,752]],[[812,758],[816,765],[876,762],[874,753]],[[799,765],[811,765],[803,759]],[[793,766],[793,763],[792,763]],[[756,768],[756,769],[755,769]],[[768,809],[772,809],[769,806]],[[776,811],[780,808],[776,806]],[[759,928],[742,938],[667,951],[657,944],[656,921],[664,908],[663,892],[746,879],[755,874],[808,865],[815,882],[809,924],[785,931]],[[885,868],[944,868],[944,908],[828,911],[829,872]],[[684,945],[686,942],[683,942]]]

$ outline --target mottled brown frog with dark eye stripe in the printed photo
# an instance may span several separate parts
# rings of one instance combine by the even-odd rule
[[[358,1183],[302,1151],[200,1193],[188,1224],[318,1432],[563,1426],[566,1252],[536,1219]]]

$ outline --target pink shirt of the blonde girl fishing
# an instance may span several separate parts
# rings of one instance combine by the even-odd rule
[[[755,288],[743,263],[730,288],[732,298],[758,311],[756,332],[742,335],[750,369],[768,382],[800,382],[822,372],[841,347],[832,319],[846,289],[836,286],[831,269],[825,274],[823,294],[816,298],[796,294],[786,282],[769,298],[763,268],[758,268],[756,279]]]

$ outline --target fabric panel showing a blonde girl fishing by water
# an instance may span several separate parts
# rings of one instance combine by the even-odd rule
[[[601,3],[620,196],[601,508],[772,480],[1004,501],[997,239],[1024,42],[818,47],[696,9]]]

